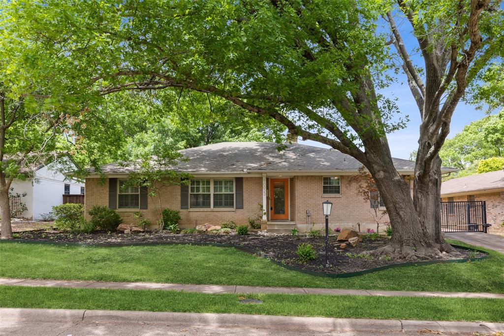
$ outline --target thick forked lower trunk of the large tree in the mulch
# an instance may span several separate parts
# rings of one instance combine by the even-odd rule
[[[437,157],[430,173],[415,174],[412,198],[409,181],[397,173],[392,159],[386,159],[377,147],[374,155],[366,152],[367,169],[387,207],[392,238],[386,246],[370,253],[407,260],[442,258],[443,252],[456,254],[440,233],[440,159]]]

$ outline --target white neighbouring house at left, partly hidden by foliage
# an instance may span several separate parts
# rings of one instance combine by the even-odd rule
[[[61,160],[68,159],[59,158],[54,162],[34,167],[31,173],[33,178],[27,178],[24,181],[14,179],[11,194],[26,193],[26,196],[20,197],[20,201],[26,204],[27,210],[17,217],[42,220],[43,214],[49,213],[53,205],[63,203],[64,194],[84,195],[84,183],[61,174]],[[65,164],[68,168],[68,161]]]

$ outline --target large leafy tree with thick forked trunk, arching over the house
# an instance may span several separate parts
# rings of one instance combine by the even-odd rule
[[[439,227],[438,153],[468,84],[501,56],[498,1],[10,6],[20,32],[65,49],[83,88],[199,91],[358,159],[376,182],[394,233],[375,253],[416,259],[452,251]],[[410,27],[400,29],[398,19]],[[395,117],[395,100],[380,93],[396,69],[405,73],[421,118],[413,198],[386,137],[404,120]]]

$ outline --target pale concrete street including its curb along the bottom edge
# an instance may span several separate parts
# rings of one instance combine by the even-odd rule
[[[458,334],[504,332],[504,323],[246,314],[0,308],[0,334]]]

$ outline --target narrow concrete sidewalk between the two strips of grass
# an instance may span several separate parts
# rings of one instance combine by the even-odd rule
[[[325,294],[325,295],[364,295],[364,296],[409,296],[438,298],[469,298],[469,299],[504,299],[504,294],[466,293],[466,292],[407,292],[407,291],[377,291],[330,288],[296,288],[296,287],[252,287],[226,285],[184,285],[160,283],[118,283],[99,281],[70,281],[42,279],[8,279],[0,278],[0,285],[26,287],[70,287],[97,289],[153,289],[164,291],[197,292],[206,294],[236,294],[236,293],[287,293],[287,294]]]

